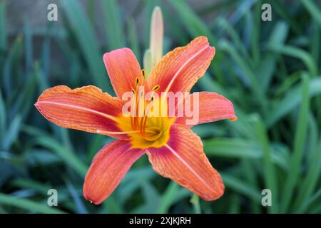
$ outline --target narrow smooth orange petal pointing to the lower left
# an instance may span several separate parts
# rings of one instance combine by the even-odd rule
[[[100,204],[118,186],[133,162],[144,150],[131,149],[130,142],[116,140],[103,147],[93,158],[83,184],[83,196]]]

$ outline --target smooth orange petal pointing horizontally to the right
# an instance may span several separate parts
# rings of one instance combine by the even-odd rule
[[[195,98],[198,100],[195,100]],[[186,100],[190,100],[190,108],[188,105],[186,105]],[[194,106],[194,103],[196,104],[196,102],[198,102],[198,118],[197,115],[194,115],[196,123],[190,124],[188,123],[188,120],[193,119],[193,117],[190,117],[191,113],[197,111],[197,105]],[[235,115],[233,104],[230,102],[230,100],[223,97],[223,95],[219,95],[218,93],[192,93],[185,98],[185,105],[184,103],[178,103],[177,108],[178,110],[182,111],[183,116],[178,117],[175,120],[175,123],[188,125],[189,127],[193,127],[193,125],[200,123],[208,123],[224,119],[238,119],[238,117]],[[187,112],[186,108],[188,108]],[[189,111],[191,111],[191,113],[186,115]]]

